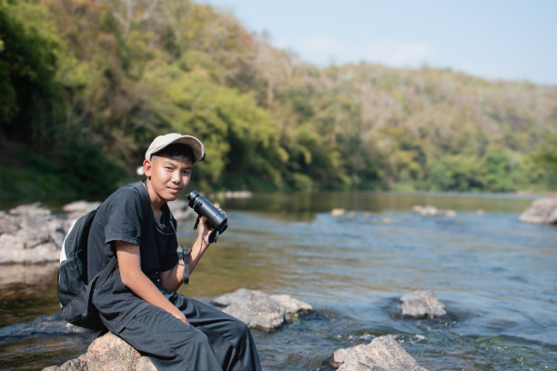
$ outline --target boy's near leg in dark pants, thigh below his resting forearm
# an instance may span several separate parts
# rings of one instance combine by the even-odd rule
[[[158,370],[220,370],[208,336],[156,306],[147,306],[117,334]]]

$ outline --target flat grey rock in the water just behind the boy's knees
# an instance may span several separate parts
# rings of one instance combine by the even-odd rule
[[[249,327],[270,331],[284,326],[293,316],[309,313],[313,307],[291,296],[268,296],[262,291],[239,288],[212,300],[222,311]]]

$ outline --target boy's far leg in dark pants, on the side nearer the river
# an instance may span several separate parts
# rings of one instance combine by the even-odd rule
[[[246,324],[191,297],[173,294],[169,299],[192,326],[208,336],[224,370],[261,369],[258,350]]]

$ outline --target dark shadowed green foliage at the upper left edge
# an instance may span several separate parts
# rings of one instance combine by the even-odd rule
[[[51,135],[46,122],[60,100],[59,39],[39,26],[44,18],[38,8],[0,2],[0,123],[3,134],[28,142]]]

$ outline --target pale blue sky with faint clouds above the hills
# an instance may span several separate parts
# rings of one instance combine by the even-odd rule
[[[200,0],[314,65],[366,61],[557,85],[557,0]]]

